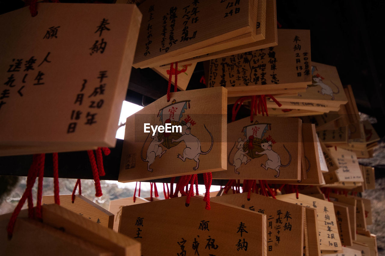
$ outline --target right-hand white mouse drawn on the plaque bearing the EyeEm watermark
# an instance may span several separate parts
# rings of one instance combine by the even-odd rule
[[[182,136],[179,139],[171,139],[171,142],[178,142],[178,141],[184,141],[186,144],[186,148],[183,150],[183,156],[181,154],[178,154],[178,158],[181,159],[183,162],[186,161],[186,158],[188,159],[194,159],[196,162],[196,166],[192,169],[197,170],[199,167],[199,156],[208,154],[211,149],[213,148],[214,139],[213,135],[209,130],[206,128],[206,125],[204,125],[204,128],[206,131],[210,134],[211,137],[211,146],[210,149],[206,152],[201,151],[201,141],[194,135],[190,133],[190,129],[188,129],[191,126],[190,123],[187,123],[186,125],[182,125]]]

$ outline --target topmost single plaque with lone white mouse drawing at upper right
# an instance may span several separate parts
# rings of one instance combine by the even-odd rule
[[[317,62],[312,62],[311,83],[308,84],[306,92],[298,96],[276,97],[282,101],[313,102],[320,104],[341,105],[348,103],[343,90],[337,68]]]

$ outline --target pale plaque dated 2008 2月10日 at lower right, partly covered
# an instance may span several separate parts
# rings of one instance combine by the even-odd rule
[[[276,196],[277,199],[311,207],[317,210],[317,221],[321,250],[341,250],[341,241],[336,224],[336,216],[332,202],[311,196],[295,193]]]

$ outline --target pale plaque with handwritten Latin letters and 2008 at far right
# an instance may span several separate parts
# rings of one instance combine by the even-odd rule
[[[324,173],[327,184],[337,181],[363,182],[361,169],[354,152],[339,147],[331,148],[329,152],[334,159],[338,159],[340,168],[333,172]]]

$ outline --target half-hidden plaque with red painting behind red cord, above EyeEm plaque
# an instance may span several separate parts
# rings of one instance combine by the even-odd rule
[[[186,65],[178,65],[178,71],[184,71],[181,74],[178,74],[177,79],[177,87],[179,90],[186,90],[187,85],[190,82],[192,73],[194,72],[196,63],[189,63]],[[162,66],[162,67],[154,67],[152,68],[159,75],[164,77],[166,80],[169,79],[169,74],[167,74],[167,70],[170,70],[170,65]],[[175,76],[173,75],[171,78],[171,84],[174,84]]]

